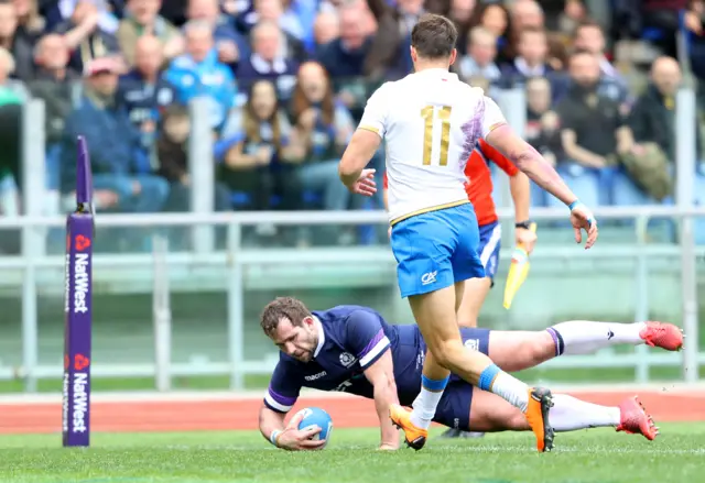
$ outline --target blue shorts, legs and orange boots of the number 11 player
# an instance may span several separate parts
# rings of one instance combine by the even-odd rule
[[[455,243],[455,246],[448,243]],[[501,371],[484,353],[467,351],[463,347],[455,314],[455,289],[451,285],[453,282],[484,276],[484,267],[474,251],[477,243],[477,222],[469,206],[414,217],[392,230],[401,295],[409,297],[432,358],[424,361],[424,387],[414,403],[414,409],[409,414],[399,406],[392,406],[390,417],[404,430],[410,446],[422,448],[433,416],[431,408],[435,410],[442,396],[438,393],[443,392],[448,380],[447,376],[444,380],[431,377],[441,377],[448,374],[447,371],[453,371],[521,408],[536,435],[538,449],[550,450],[553,430],[547,425],[546,416],[551,407],[551,393],[547,389],[529,388]],[[456,246],[463,246],[465,252]],[[456,257],[455,265],[451,257]],[[458,260],[462,261],[460,265]]]

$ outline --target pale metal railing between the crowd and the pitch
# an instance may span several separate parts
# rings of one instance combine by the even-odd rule
[[[500,210],[501,219],[512,219],[513,212],[508,209]],[[695,263],[698,256],[705,256],[705,246],[695,246],[691,238],[681,237],[679,244],[654,245],[646,243],[646,226],[652,218],[671,218],[681,221],[682,234],[684,227],[687,229],[685,220],[691,217],[705,217],[705,207],[636,207],[636,208],[600,208],[595,211],[599,221],[609,219],[633,219],[634,230],[639,243],[637,245],[603,245],[599,241],[590,251],[584,251],[579,246],[550,246],[538,248],[532,260],[547,259],[555,261],[561,257],[584,257],[584,259],[633,259],[637,261],[634,273],[636,286],[638,289],[639,303],[634,307],[636,320],[646,320],[648,316],[648,287],[646,279],[648,273],[648,259],[670,257],[681,260],[682,285],[684,298],[683,304],[683,328],[690,340],[698,340],[697,325],[697,299]],[[536,220],[565,220],[567,211],[565,209],[535,209],[532,217]],[[37,243],[41,231],[37,229],[46,227],[59,227],[64,223],[61,218],[25,217],[15,219],[0,219],[0,229],[15,228],[24,232],[25,240],[30,244]],[[170,353],[170,312],[167,294],[155,285],[153,296],[154,323],[155,323],[155,348],[156,361],[153,364],[120,364],[106,365],[96,364],[93,373],[97,377],[135,377],[154,376],[158,387],[166,389],[171,376],[178,375],[218,375],[227,374],[230,377],[232,388],[243,387],[243,377],[247,374],[265,374],[273,367],[263,364],[261,361],[246,361],[243,358],[243,270],[247,266],[261,264],[344,264],[344,263],[388,263],[394,264],[391,251],[387,248],[357,248],[357,249],[246,249],[241,246],[241,229],[248,226],[260,223],[271,223],[276,226],[301,226],[301,224],[369,224],[387,223],[387,213],[383,211],[300,211],[300,212],[257,212],[257,213],[177,213],[177,215],[104,215],[97,217],[97,223],[101,227],[204,227],[204,226],[226,226],[227,227],[227,250],[212,253],[154,253],[133,255],[110,255],[96,254],[94,270],[106,270],[109,266],[152,266],[153,279],[164,281],[169,276],[165,273],[167,267],[174,266],[227,266],[227,330],[228,330],[228,361],[225,363],[197,364],[172,364],[170,358],[164,354]],[[567,229],[567,228],[566,228]],[[159,252],[163,252],[160,249]],[[34,273],[40,267],[61,267],[64,257],[54,256],[32,256],[25,254],[20,257],[0,257],[0,270],[23,270],[25,274]],[[393,284],[393,279],[390,279]],[[26,388],[32,391],[37,378],[56,377],[61,374],[61,365],[40,365],[37,363],[37,299],[36,278],[25,276],[22,286],[23,314],[22,338],[23,338],[23,363],[22,367],[0,367],[0,378],[13,378],[18,374],[25,378]],[[156,301],[156,299],[162,301]],[[633,354],[612,354],[609,358],[595,356],[572,356],[554,360],[550,365],[562,367],[576,366],[633,366],[637,370],[637,380],[646,382],[648,380],[649,366],[651,365],[682,365],[683,377],[686,382],[694,382],[698,378],[698,364],[705,363],[705,354],[698,354],[697,344],[687,344],[682,354],[651,354],[646,351],[646,347],[637,348]]]

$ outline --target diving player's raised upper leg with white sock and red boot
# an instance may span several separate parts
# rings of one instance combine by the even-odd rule
[[[464,341],[482,330],[464,331]],[[663,322],[571,320],[538,331],[492,330],[487,354],[502,370],[514,372],[563,354],[592,354],[610,345],[642,343],[675,351],[683,345],[683,333],[676,326]]]

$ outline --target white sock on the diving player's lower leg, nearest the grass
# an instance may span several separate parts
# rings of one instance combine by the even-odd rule
[[[556,431],[617,426],[621,419],[618,407],[586,403],[567,394],[554,394],[553,404],[549,422]]]

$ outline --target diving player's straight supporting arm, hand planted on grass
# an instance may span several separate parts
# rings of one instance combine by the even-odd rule
[[[389,406],[399,404],[399,396],[390,342],[379,316],[365,310],[350,314],[346,325],[346,348],[358,356],[365,377],[375,388],[375,408],[381,432],[380,449],[397,449],[399,433],[389,419]]]

